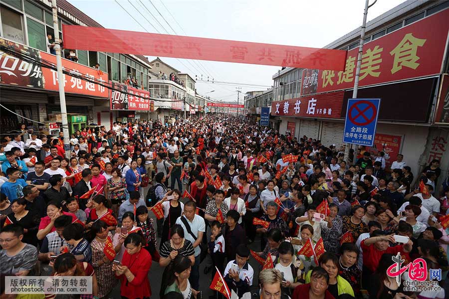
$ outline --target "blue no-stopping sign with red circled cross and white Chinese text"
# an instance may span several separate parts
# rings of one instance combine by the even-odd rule
[[[343,142],[372,147],[379,107],[380,99],[349,99]]]

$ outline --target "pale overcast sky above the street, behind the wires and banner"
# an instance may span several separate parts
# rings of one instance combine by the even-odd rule
[[[68,1],[105,28],[164,34],[176,32],[194,37],[317,48],[360,27],[365,7],[364,0],[117,0],[138,24],[115,0]],[[377,0],[368,10],[368,21],[402,2]],[[154,58],[148,57],[150,61]],[[196,83],[199,94],[216,101],[236,101],[237,87],[241,87],[242,93],[265,90],[273,85],[272,75],[280,69],[266,65],[160,58],[194,79],[198,76],[207,80],[209,76],[210,81],[212,77],[215,81],[266,86]]]

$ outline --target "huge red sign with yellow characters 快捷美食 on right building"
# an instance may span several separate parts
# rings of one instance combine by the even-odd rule
[[[445,9],[365,43],[359,87],[441,73],[448,19],[449,9]],[[356,47],[348,52],[344,71],[304,70],[302,95],[353,88],[358,51]]]

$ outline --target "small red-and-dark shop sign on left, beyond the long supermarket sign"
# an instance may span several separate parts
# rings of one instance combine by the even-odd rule
[[[109,98],[111,110],[151,111],[151,106],[154,109],[154,103],[151,105],[153,101],[150,101],[149,91],[115,82],[110,82],[110,85],[113,88]]]

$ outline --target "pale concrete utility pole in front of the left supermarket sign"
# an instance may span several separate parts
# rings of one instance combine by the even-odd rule
[[[62,74],[62,60],[61,60],[61,46],[59,40],[59,26],[58,26],[58,8],[56,0],[51,0],[51,9],[53,12],[53,31],[54,31],[54,50],[56,51],[56,66],[58,70],[58,86],[59,86],[59,105],[61,106],[62,118],[62,133],[64,133],[64,149],[65,156],[70,158],[70,150],[66,146],[70,144],[70,137],[68,132],[67,121],[67,107],[65,107],[65,92],[64,92],[64,75]]]

